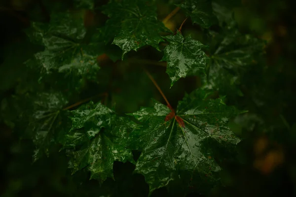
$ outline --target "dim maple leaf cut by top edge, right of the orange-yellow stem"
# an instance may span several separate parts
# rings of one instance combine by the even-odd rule
[[[211,0],[185,0],[178,5],[191,17],[193,24],[198,24],[203,28],[209,28],[217,22],[213,14]]]

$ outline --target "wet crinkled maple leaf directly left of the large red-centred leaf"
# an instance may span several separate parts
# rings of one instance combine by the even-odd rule
[[[101,103],[89,102],[71,113],[72,128],[61,143],[68,149],[73,173],[86,167],[91,179],[104,181],[113,177],[114,161],[133,162],[127,135],[137,127],[135,123]]]

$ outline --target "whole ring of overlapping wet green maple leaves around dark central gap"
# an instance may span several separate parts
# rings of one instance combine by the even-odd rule
[[[102,7],[109,19],[90,39],[80,11],[53,12],[49,23],[31,24],[26,33],[43,50],[25,64],[39,73],[37,83],[55,73],[63,73],[59,76],[74,89],[79,89],[83,80],[96,82],[100,73],[97,57],[107,53],[111,43],[121,48],[123,59],[130,51],[147,45],[160,50],[159,43],[167,42],[162,61],[167,63],[171,86],[208,68],[203,86],[179,101],[177,110],[153,101],[152,107],[123,117],[90,101],[69,111],[66,105],[71,98],[60,90],[38,94],[27,91],[2,100],[1,117],[16,130],[30,133],[36,145],[35,160],[48,155],[52,144],[59,144],[70,158],[73,173],[86,168],[91,178],[100,181],[113,177],[114,161],[129,161],[136,164],[135,172],[145,176],[150,192],[188,177],[190,181],[185,182],[199,190],[218,184],[221,166],[212,145],[227,150],[239,143],[227,124],[240,112],[227,106],[223,97],[209,96],[212,91],[224,93],[225,89],[240,93],[237,73],[256,63],[255,56],[262,52],[263,44],[235,30],[229,15],[232,5],[217,0],[185,0],[179,6],[203,29],[220,25],[221,32],[211,33],[210,46],[167,30],[157,19],[154,0],[111,0]],[[74,7],[93,9],[94,4],[76,1]],[[30,105],[21,106],[22,99],[28,99]],[[20,106],[12,106],[14,102]],[[5,116],[12,108],[17,115]],[[132,150],[142,151],[137,162]]]

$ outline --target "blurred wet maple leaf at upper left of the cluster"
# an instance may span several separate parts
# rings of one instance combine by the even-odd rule
[[[34,43],[45,47],[27,62],[27,66],[39,67],[41,78],[52,71],[96,78],[96,58],[103,51],[98,43],[82,43],[86,30],[80,12],[53,13],[49,24],[34,22],[26,33]]]

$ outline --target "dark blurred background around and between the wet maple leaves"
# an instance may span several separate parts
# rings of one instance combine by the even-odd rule
[[[95,0],[95,8],[107,0]],[[158,17],[164,19],[178,0],[159,0]],[[227,94],[227,104],[249,110],[229,126],[243,138],[238,145],[236,160],[222,162],[224,187],[214,188],[213,197],[293,197],[296,196],[296,1],[242,0],[233,8],[241,33],[266,40],[266,53],[241,78],[241,96]],[[63,11],[73,6],[71,0],[1,0],[0,2],[0,99],[29,91],[31,72],[23,62],[32,57],[38,47],[31,44],[23,30],[30,21],[48,22],[52,10]],[[172,31],[179,28],[185,15],[179,11],[165,25]],[[84,25],[91,33],[102,26],[107,17],[84,10]],[[212,27],[215,29],[215,27]],[[193,26],[190,19],[183,26],[184,35],[207,43],[204,32]],[[98,61],[102,67],[99,85],[89,83],[71,102],[107,93],[104,102],[118,113],[130,113],[147,106],[154,98],[164,103],[153,84],[139,65],[151,72],[159,86],[177,106],[185,93],[202,85],[203,79],[189,76],[180,79],[171,89],[165,73],[165,63],[158,62],[161,52],[145,47],[130,52],[124,61],[112,62],[106,56]],[[28,85],[29,84],[29,85]],[[94,94],[93,90],[97,90]],[[116,103],[116,105],[114,105]],[[1,116],[3,118],[3,115]],[[147,197],[148,185],[144,177],[132,174],[135,166],[114,163],[114,180],[102,185],[89,180],[86,171],[71,175],[63,151],[32,163],[32,140],[21,138],[0,120],[0,196],[3,197]],[[139,153],[135,152],[137,157]],[[152,197],[184,196],[167,188],[153,192]],[[181,190],[180,190],[181,191]],[[193,191],[188,197],[203,196]]]

